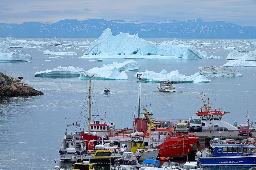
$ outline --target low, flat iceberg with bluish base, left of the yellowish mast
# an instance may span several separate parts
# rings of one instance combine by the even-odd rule
[[[80,73],[84,71],[79,67],[57,67],[53,70],[37,71],[35,76],[37,77],[79,77]]]

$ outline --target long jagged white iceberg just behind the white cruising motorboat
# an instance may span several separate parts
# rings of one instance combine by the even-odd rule
[[[134,77],[138,79],[137,72]],[[192,76],[185,76],[183,74],[179,74],[179,71],[171,71],[167,73],[166,70],[162,70],[160,73],[156,73],[154,71],[141,72],[143,74],[141,76],[142,81],[152,81],[152,82],[163,82],[163,81],[172,81],[173,83],[209,83],[211,80],[208,80],[204,75],[196,73]]]

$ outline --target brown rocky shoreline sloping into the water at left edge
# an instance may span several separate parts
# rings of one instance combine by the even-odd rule
[[[9,77],[0,72],[0,98],[18,96],[37,96],[44,94],[35,90],[31,86],[22,86],[24,82],[13,77]]]

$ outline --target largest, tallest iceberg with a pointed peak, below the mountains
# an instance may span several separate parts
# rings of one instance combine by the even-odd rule
[[[138,37],[138,34],[120,33],[113,36],[107,28],[92,42],[81,58],[147,58],[147,59],[202,59],[206,58],[192,45],[154,44]]]

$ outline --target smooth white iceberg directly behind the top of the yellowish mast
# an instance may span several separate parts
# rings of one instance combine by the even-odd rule
[[[128,76],[125,71],[118,71],[116,67],[95,67],[88,71],[80,73],[79,79],[89,80],[88,76],[93,76],[94,80],[128,80]]]

